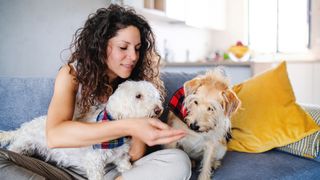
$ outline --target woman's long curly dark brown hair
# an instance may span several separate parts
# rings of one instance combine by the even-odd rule
[[[164,99],[164,85],[159,73],[160,55],[155,49],[155,37],[150,25],[134,9],[110,5],[90,14],[84,27],[76,31],[70,45],[73,53],[68,65],[71,68],[71,64],[76,62],[76,80],[81,84],[81,99],[78,102],[81,114],[88,112],[90,106],[99,103],[101,98],[108,98],[118,84],[126,80],[118,78],[113,84],[109,83],[106,48],[109,39],[128,26],[138,28],[141,38],[139,59],[128,79],[152,82]]]

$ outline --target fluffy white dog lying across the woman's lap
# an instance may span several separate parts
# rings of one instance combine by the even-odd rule
[[[120,84],[108,102],[99,107],[91,107],[90,112],[75,121],[96,122],[100,112],[107,110],[115,120],[123,118],[159,117],[163,111],[159,91],[147,81],[126,81]],[[8,150],[45,157],[45,161],[56,162],[60,167],[76,167],[86,172],[88,179],[103,179],[104,167],[114,163],[119,172],[131,168],[129,157],[130,141],[113,149],[81,148],[49,149],[45,139],[46,116],[26,122],[14,131],[1,132],[0,144],[8,145]]]

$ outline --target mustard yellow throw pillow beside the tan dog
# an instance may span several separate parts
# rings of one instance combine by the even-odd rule
[[[232,117],[232,139],[228,149],[259,153],[302,139],[320,127],[296,103],[282,62],[233,90],[242,107]]]

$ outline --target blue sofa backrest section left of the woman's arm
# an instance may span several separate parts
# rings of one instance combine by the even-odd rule
[[[16,129],[23,122],[47,114],[53,94],[51,78],[0,78],[0,127]]]

